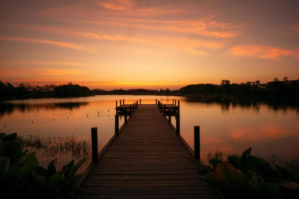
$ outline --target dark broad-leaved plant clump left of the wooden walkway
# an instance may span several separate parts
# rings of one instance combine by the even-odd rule
[[[0,186],[3,198],[64,198],[83,176],[77,170],[86,161],[74,160],[56,170],[57,158],[48,168],[39,166],[35,152],[23,151],[17,133],[0,133]]]

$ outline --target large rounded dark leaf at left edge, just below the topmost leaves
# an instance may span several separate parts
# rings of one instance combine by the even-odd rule
[[[20,142],[18,141],[4,142],[2,146],[2,156],[5,156],[10,159],[10,165],[12,165],[17,159],[21,158],[22,155],[23,155],[23,150]]]

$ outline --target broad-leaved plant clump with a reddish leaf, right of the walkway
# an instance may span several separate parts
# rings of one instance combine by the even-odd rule
[[[186,158],[198,164],[201,180],[208,182],[229,198],[278,198],[280,181],[299,183],[298,170],[287,170],[251,155],[251,147],[242,156],[228,156],[227,161],[211,159],[210,165]]]

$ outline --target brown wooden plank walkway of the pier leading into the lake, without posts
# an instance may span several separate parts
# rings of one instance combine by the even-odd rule
[[[76,198],[218,198],[183,157],[192,154],[157,105],[139,105],[81,184],[94,193]]]

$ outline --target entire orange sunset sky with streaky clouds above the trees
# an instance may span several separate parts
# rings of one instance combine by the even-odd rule
[[[299,1],[0,1],[0,80],[170,88],[299,78]]]

